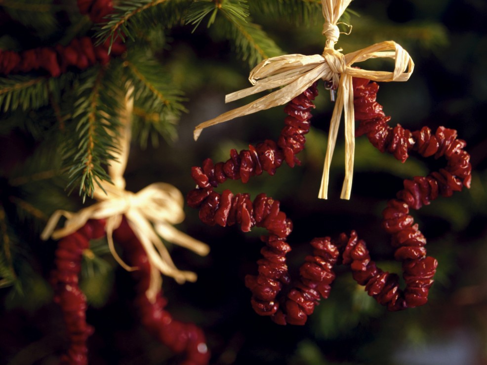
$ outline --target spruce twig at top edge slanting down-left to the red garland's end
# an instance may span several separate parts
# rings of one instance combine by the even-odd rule
[[[147,31],[149,26],[170,28],[182,19],[191,0],[124,0],[114,7],[107,22],[96,28],[97,44],[110,39],[110,48],[120,37],[135,40],[137,31]]]

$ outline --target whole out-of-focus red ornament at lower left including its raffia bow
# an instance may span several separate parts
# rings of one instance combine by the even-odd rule
[[[94,198],[98,202],[77,213],[64,210],[54,212],[41,234],[43,240],[49,237],[61,239],[55,254],[56,268],[53,273],[53,284],[56,301],[60,303],[63,310],[70,338],[70,348],[63,361],[67,364],[87,363],[86,338],[92,330],[86,325],[84,314],[86,298],[78,287],[78,274],[81,255],[88,249],[89,240],[106,235],[115,259],[125,269],[133,271],[139,277],[138,288],[143,288],[143,291],[138,291],[137,300],[144,324],[149,329],[159,326],[160,331],[165,333],[163,337],[158,336],[162,343],[168,344],[177,352],[185,351],[189,358],[200,359],[195,364],[205,364],[208,351],[204,343],[204,335],[199,328],[194,325],[183,326],[176,321],[169,327],[162,326],[162,323],[159,325],[150,323],[150,318],[157,320],[158,313],[165,319],[171,319],[170,315],[163,311],[161,274],[170,276],[181,284],[185,281],[195,281],[197,278],[193,272],[176,268],[160,237],[199,255],[206,255],[209,248],[203,242],[174,228],[174,224],[184,219],[184,198],[174,186],[153,183],[137,193],[125,190],[123,172],[130,146],[132,92],[133,88],[128,92],[125,108],[121,112],[120,153],[115,156],[108,168],[113,183],[100,182],[100,189],[94,190]],[[63,216],[67,218],[64,227],[56,229],[59,219]],[[129,255],[129,260],[134,266],[126,264],[115,251],[114,234],[126,251],[132,253]],[[152,317],[148,317],[149,312],[152,313]]]

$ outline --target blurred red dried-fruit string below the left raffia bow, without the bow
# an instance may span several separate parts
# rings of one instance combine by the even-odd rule
[[[54,300],[60,305],[68,331],[69,348],[61,358],[61,364],[88,364],[87,338],[93,328],[86,323],[86,296],[78,285],[81,259],[89,248],[89,240],[105,235],[103,220],[88,220],[75,233],[62,238],[55,252],[55,269],[52,272]],[[185,353],[184,365],[208,364],[210,353],[201,328],[192,323],[176,321],[164,310],[167,300],[162,292],[151,302],[146,291],[151,280],[151,267],[147,254],[126,220],[114,232],[115,239],[122,245],[130,262],[138,267],[133,272],[138,280],[135,303],[140,311],[142,324],[163,345],[174,353]]]

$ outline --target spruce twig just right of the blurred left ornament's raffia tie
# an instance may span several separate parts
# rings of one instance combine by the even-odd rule
[[[186,108],[183,92],[172,82],[169,73],[152,57],[130,57],[123,64],[134,86],[134,139],[142,147],[151,139],[158,145],[159,136],[173,141],[175,124]]]

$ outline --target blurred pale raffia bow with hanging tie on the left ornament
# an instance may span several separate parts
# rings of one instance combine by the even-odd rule
[[[149,257],[151,283],[146,294],[149,299],[154,299],[161,287],[161,273],[173,277],[178,283],[196,281],[197,278],[194,272],[176,268],[159,236],[199,255],[208,254],[209,247],[173,227],[173,224],[184,219],[184,198],[176,187],[167,183],[153,183],[137,193],[125,190],[123,173],[130,146],[130,115],[133,107],[131,97],[127,98],[125,106],[121,113],[124,130],[121,132],[120,154],[108,168],[113,184],[101,182],[106,193],[102,189],[95,189],[93,195],[98,202],[77,213],[64,210],[54,212],[42,231],[41,238],[59,239],[80,229],[88,219],[106,219],[105,230],[110,251],[126,270],[136,270],[136,267],[130,267],[123,262],[114,247],[113,231],[120,226],[122,216],[125,216]],[[67,218],[65,225],[55,229],[61,217]]]

